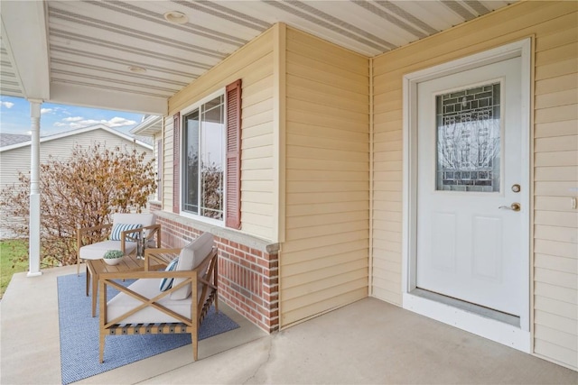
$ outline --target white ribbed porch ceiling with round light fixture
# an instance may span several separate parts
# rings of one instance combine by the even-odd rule
[[[163,115],[170,96],[277,22],[373,57],[510,3],[2,0],[0,94]],[[169,11],[188,23],[166,22]]]

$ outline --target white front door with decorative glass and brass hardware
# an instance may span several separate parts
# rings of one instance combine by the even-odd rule
[[[527,296],[520,60],[417,85],[415,286],[514,316]]]

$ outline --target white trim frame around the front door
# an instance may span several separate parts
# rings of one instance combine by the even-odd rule
[[[402,298],[403,307],[415,313],[429,316],[448,325],[455,325],[476,335],[489,338],[500,344],[507,344],[523,352],[530,353],[530,87],[531,87],[531,38],[515,41],[492,50],[473,54],[466,58],[452,60],[428,69],[422,69],[404,76],[403,79],[403,231],[402,231]],[[522,231],[520,252],[527,256],[523,274],[524,292],[527,298],[522,304],[520,327],[474,315],[456,307],[450,307],[430,299],[410,294],[415,289],[416,223],[417,223],[417,84],[433,78],[473,69],[487,64],[521,58],[521,139],[522,139],[522,186],[527,186],[521,197],[524,206],[520,215],[527,225]]]

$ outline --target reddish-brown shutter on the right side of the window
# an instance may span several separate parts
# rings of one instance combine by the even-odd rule
[[[241,79],[227,86],[227,212],[225,225],[241,228]]]

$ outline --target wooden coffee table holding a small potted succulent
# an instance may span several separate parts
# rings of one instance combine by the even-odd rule
[[[117,265],[109,265],[104,260],[86,260],[87,262],[87,297],[89,297],[90,280],[92,280],[92,316],[97,316],[97,288],[98,277],[103,272],[119,271],[142,271],[144,270],[144,260],[136,258],[136,253],[125,255],[123,260]],[[151,260],[149,268],[158,270],[164,268],[166,264]]]

